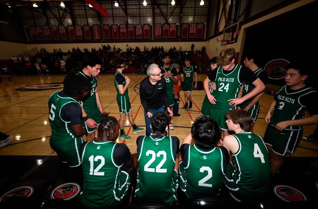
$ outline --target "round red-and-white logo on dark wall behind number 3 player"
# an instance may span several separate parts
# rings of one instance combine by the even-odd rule
[[[264,68],[268,78],[273,80],[282,79],[286,75],[286,66],[289,64],[289,61],[286,59],[273,59],[268,62]]]

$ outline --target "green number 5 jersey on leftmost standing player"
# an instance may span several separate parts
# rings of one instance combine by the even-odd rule
[[[80,138],[73,133],[71,121],[65,121],[61,117],[61,110],[64,105],[69,103],[78,104],[78,101],[72,97],[62,97],[59,92],[61,91],[54,92],[49,98],[49,122],[52,136]]]

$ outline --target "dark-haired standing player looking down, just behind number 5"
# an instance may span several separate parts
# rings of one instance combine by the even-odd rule
[[[97,75],[100,73],[102,61],[95,54],[85,54],[82,60],[83,70],[78,74],[84,76],[92,84],[91,94],[81,102],[84,108],[83,126],[87,130],[87,141],[95,140],[95,129],[100,124],[100,114],[105,112],[97,91]]]

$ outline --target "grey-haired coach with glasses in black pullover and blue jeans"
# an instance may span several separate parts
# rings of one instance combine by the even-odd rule
[[[152,114],[164,111],[163,103],[169,107],[166,80],[161,79],[161,70],[158,65],[151,64],[147,69],[148,77],[140,83],[140,101],[145,110],[146,136],[150,136],[150,117]],[[172,110],[167,108],[169,116]]]

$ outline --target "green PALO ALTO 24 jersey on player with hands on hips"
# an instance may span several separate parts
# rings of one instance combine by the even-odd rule
[[[219,66],[217,70],[217,76],[215,83],[217,88],[213,91],[216,104],[212,108],[216,108],[219,111],[227,112],[229,109],[236,109],[237,106],[229,105],[229,99],[235,99],[238,97],[239,90],[242,82],[239,80],[239,74],[241,72],[241,65],[235,65],[230,73],[223,73],[223,68]]]

